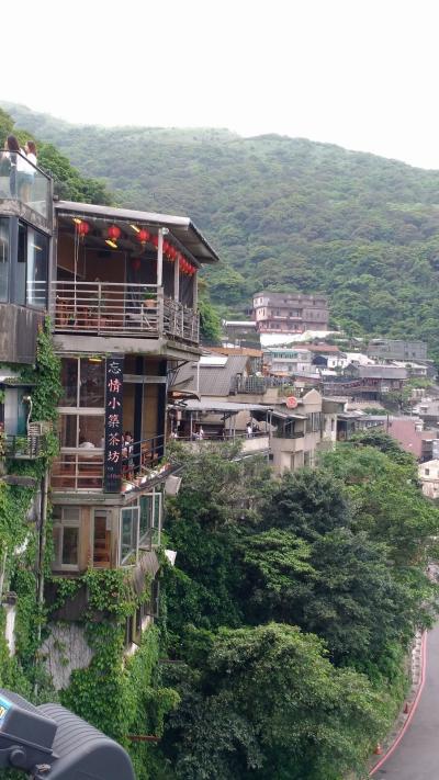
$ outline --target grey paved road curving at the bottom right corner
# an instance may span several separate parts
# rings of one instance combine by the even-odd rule
[[[396,749],[374,780],[439,780],[439,623],[427,638],[425,686]]]

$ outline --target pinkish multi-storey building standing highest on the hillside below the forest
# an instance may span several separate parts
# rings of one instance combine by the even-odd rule
[[[324,295],[261,292],[254,295],[252,316],[260,334],[327,331],[329,309]]]

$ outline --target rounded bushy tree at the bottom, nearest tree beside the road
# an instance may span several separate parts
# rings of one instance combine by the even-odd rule
[[[180,668],[183,709],[166,734],[178,778],[335,780],[361,766],[385,725],[367,678],[335,669],[297,628],[193,631],[187,645],[195,658],[190,649]]]

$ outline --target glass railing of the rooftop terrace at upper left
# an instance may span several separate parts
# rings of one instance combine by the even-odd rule
[[[0,152],[0,201],[19,201],[45,221],[52,214],[52,179],[18,151]]]

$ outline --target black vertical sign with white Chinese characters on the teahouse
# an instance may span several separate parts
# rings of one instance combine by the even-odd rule
[[[104,490],[122,487],[123,358],[108,358],[105,370]]]

